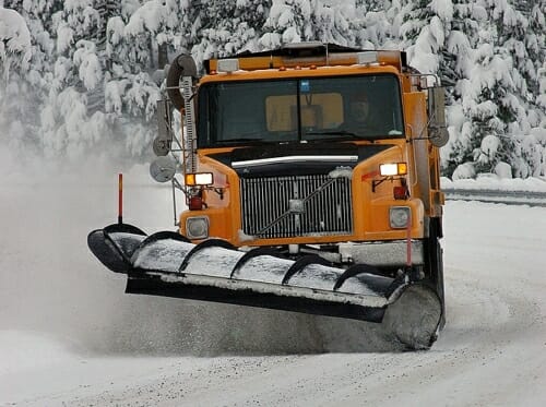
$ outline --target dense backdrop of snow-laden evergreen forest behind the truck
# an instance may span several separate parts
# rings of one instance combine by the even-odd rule
[[[442,79],[451,134],[444,175],[506,175],[508,167],[519,177],[545,173],[545,0],[2,3],[29,33],[29,47],[14,51],[0,19],[0,120],[25,149],[76,157],[114,143],[143,157],[165,64],[179,52],[200,64],[321,40],[405,49],[412,65]]]

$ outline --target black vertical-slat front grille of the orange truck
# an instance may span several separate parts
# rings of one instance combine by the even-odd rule
[[[262,238],[351,235],[351,179],[328,175],[242,178],[242,231]]]

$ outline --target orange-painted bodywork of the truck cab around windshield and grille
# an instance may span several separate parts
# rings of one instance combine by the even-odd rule
[[[339,56],[323,65],[323,59],[288,60],[281,57],[239,58],[239,70],[232,73],[217,73],[217,60],[209,62],[209,74],[200,80],[200,85],[214,82],[260,81],[264,79],[297,79],[349,76],[376,73],[394,74],[402,89],[402,109],[405,124],[405,139],[385,139],[375,141],[351,141],[353,145],[381,145],[389,147],[358,163],[353,168],[353,232],[340,236],[307,236],[275,239],[251,238],[241,235],[241,197],[237,172],[210,156],[229,153],[241,146],[219,148],[200,148],[197,151],[197,170],[212,172],[214,188],[223,191],[222,196],[211,190],[203,191],[205,206],[201,211],[185,211],[180,215],[180,232],[186,232],[186,220],[189,217],[206,216],[210,222],[209,236],[222,238],[236,247],[284,246],[284,244],[320,244],[342,241],[371,242],[406,239],[423,239],[427,228],[425,219],[441,217],[443,194],[439,190],[439,153],[427,136],[427,94],[416,87],[412,74],[402,71],[400,53],[379,52],[379,63],[356,64],[354,56]],[[272,68],[270,68],[272,67]],[[417,141],[418,139],[422,139]],[[420,148],[422,151],[417,151]],[[427,171],[418,171],[419,154],[426,154]],[[407,163],[407,188],[410,196],[394,199],[393,187],[396,180],[384,179],[379,175],[379,165],[383,163]],[[420,164],[423,165],[423,164]],[[427,178],[428,179],[423,179]],[[393,229],[390,226],[389,208],[391,206],[411,208],[412,223],[410,230]],[[410,234],[410,235],[408,235]]]

